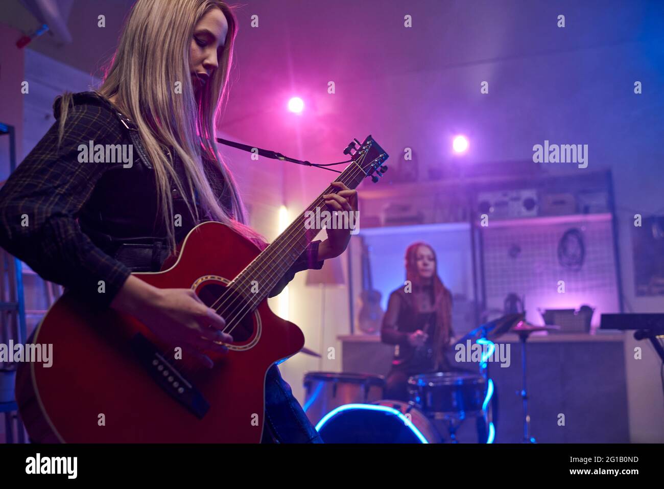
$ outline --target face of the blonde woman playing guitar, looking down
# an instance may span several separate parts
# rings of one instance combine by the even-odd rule
[[[189,72],[194,92],[198,93],[219,66],[218,58],[226,43],[228,22],[220,9],[203,15],[194,28],[189,47]]]

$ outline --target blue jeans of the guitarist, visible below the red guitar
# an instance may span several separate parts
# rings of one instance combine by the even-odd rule
[[[265,427],[261,443],[323,443],[277,365],[265,376]]]

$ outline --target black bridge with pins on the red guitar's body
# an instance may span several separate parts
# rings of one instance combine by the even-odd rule
[[[169,363],[155,345],[137,333],[131,338],[131,349],[136,353],[141,366],[165,393],[198,419],[203,419],[210,409],[209,403],[203,394]]]

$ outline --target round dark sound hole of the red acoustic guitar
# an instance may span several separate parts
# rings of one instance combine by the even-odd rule
[[[201,286],[197,294],[226,320],[224,333],[233,337],[233,343],[246,342],[254,336],[254,311],[240,294],[214,282]]]

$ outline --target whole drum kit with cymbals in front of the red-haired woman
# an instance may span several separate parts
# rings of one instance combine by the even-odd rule
[[[461,338],[491,342],[506,332],[519,335],[522,344],[524,442],[530,435],[526,391],[525,342],[533,332],[556,326],[533,326],[523,314],[508,314],[479,326]],[[493,384],[487,363],[479,373],[466,371],[412,375],[408,402],[382,399],[384,377],[363,373],[309,372],[304,377],[303,409],[323,437],[331,443],[442,443],[444,434],[458,442],[456,431],[467,418],[483,418],[489,427],[494,415],[489,398]],[[493,430],[493,424],[491,425]],[[447,432],[447,433],[446,433]],[[493,440],[493,436],[489,439]],[[487,440],[479,440],[486,442]]]

